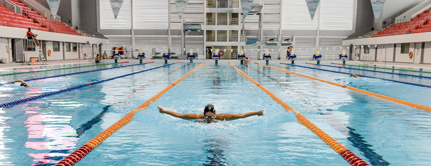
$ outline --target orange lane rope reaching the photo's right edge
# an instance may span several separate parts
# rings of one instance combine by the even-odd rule
[[[255,63],[255,64],[262,65],[262,64],[259,64],[259,63]],[[276,69],[276,70],[279,70],[279,71],[284,71],[284,72],[289,73],[289,74],[296,74],[298,76],[307,77],[309,79],[322,81],[324,83],[329,83],[329,84],[332,84],[332,85],[335,85],[335,86],[340,86],[340,87],[343,87],[343,88],[351,89],[351,90],[354,90],[354,91],[357,91],[357,92],[361,92],[361,93],[365,93],[365,94],[368,94],[368,95],[373,95],[375,97],[379,97],[379,98],[383,98],[383,99],[386,99],[386,100],[394,101],[394,102],[397,102],[397,103],[400,103],[400,104],[403,104],[403,105],[408,105],[408,106],[419,108],[419,109],[423,109],[423,110],[426,110],[426,111],[431,111],[431,107],[428,107],[428,106],[425,106],[425,105],[419,105],[419,104],[412,103],[412,102],[409,102],[409,101],[404,101],[404,100],[400,100],[400,99],[397,99],[397,98],[392,98],[392,97],[389,97],[389,96],[380,95],[380,94],[377,94],[377,93],[365,91],[365,90],[362,90],[362,89],[353,88],[353,87],[350,87],[350,86],[345,86],[345,85],[341,85],[341,84],[338,84],[338,83],[329,82],[329,81],[326,81],[326,80],[321,80],[321,79],[310,77],[310,76],[306,76],[306,75],[303,75],[303,74],[297,74],[297,73],[294,73],[294,72],[291,72],[291,71],[286,71],[286,70],[283,70],[283,69],[274,68],[274,67],[267,66],[267,65],[262,65],[262,66],[265,66],[265,67],[268,67],[268,68],[273,68],[273,69]]]

